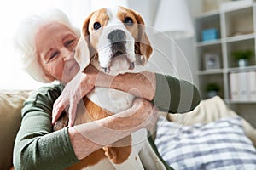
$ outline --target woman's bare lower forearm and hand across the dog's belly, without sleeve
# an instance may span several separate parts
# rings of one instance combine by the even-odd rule
[[[92,151],[123,139],[138,129],[148,127],[157,120],[157,111],[145,99],[136,99],[131,109],[115,116],[69,127],[74,152],[79,160]],[[87,147],[84,147],[86,145]]]

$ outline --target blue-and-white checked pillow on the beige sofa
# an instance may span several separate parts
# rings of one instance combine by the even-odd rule
[[[160,116],[155,144],[174,169],[256,169],[256,150],[241,117],[182,126]]]

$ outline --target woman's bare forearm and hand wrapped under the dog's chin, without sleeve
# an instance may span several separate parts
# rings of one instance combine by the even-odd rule
[[[155,75],[145,71],[113,77],[97,71],[94,66],[89,65],[84,72],[79,72],[71,82],[67,83],[61,96],[56,99],[52,123],[54,124],[67,105],[70,105],[68,110],[69,126],[73,126],[77,104],[94,87],[115,88],[143,99],[152,100],[155,92]]]

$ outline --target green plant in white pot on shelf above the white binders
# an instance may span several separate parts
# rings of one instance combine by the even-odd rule
[[[232,52],[232,56],[238,62],[239,67],[247,66],[248,60],[253,56],[251,49]]]

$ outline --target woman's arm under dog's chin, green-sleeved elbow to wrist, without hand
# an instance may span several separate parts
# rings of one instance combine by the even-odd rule
[[[194,84],[149,71],[126,73],[117,77],[99,76],[95,86],[115,88],[148,99],[160,111],[169,113],[192,111],[201,101]]]

